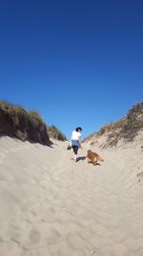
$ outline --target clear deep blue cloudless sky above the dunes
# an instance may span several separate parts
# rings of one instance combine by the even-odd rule
[[[143,1],[1,0],[0,99],[70,139],[143,101]]]

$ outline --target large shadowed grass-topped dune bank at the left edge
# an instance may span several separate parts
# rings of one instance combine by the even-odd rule
[[[0,101],[0,135],[50,145],[47,126],[36,111]]]

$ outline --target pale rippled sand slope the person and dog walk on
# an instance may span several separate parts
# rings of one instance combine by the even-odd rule
[[[1,256],[143,256],[143,151],[100,149],[100,166],[52,148],[0,138]]]

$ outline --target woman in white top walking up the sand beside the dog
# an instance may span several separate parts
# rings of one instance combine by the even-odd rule
[[[72,144],[72,149],[74,153],[74,161],[76,162],[77,160],[77,152],[78,149],[82,149],[81,146],[81,131],[82,128],[75,128],[75,130],[72,131],[72,138],[71,138],[71,144]]]

